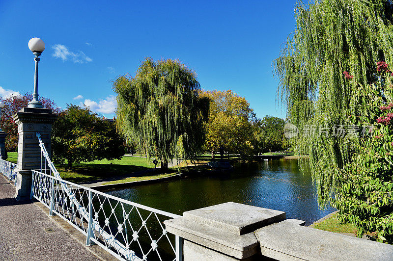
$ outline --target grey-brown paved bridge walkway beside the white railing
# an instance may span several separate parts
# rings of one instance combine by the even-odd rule
[[[31,202],[14,199],[0,175],[0,260],[101,260]],[[47,232],[45,229],[49,229]]]

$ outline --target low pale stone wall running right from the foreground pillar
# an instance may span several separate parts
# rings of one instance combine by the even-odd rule
[[[255,235],[262,255],[277,260],[393,259],[392,245],[284,222],[258,229]]]

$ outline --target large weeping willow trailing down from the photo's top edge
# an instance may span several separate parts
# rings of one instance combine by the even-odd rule
[[[279,99],[299,130],[331,134],[354,114],[356,84],[375,81],[378,61],[393,62],[390,0],[320,0],[295,7],[296,27],[273,63],[280,80]],[[345,81],[343,72],[354,78]],[[302,132],[302,131],[301,131]],[[359,148],[356,137],[299,135],[292,139],[309,168],[324,208],[335,188],[335,175]],[[301,168],[307,166],[301,161]]]

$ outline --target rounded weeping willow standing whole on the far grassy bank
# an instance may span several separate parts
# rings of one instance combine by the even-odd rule
[[[196,74],[174,60],[146,58],[134,78],[113,82],[117,130],[136,142],[163,170],[173,158],[191,159],[204,142],[209,100],[200,98]]]

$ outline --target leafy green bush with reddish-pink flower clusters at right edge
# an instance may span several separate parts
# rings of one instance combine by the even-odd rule
[[[380,63],[381,80],[359,84],[355,114],[349,123],[359,129],[360,146],[336,176],[333,206],[338,220],[353,223],[358,236],[393,243],[393,77]],[[369,132],[372,130],[372,132]],[[351,138],[351,133],[346,135]]]

